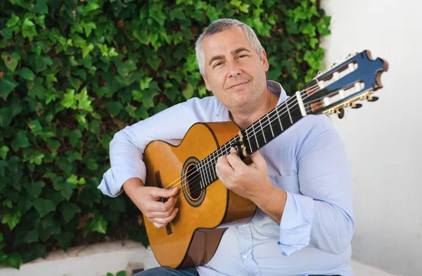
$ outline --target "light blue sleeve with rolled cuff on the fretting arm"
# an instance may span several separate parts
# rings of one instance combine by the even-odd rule
[[[285,256],[306,246],[343,253],[354,232],[352,185],[338,133],[322,118],[298,151],[300,194],[287,192],[279,248]]]

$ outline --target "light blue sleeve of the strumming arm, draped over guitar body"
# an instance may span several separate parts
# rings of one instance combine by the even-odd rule
[[[154,140],[182,139],[196,120],[191,113],[198,101],[187,101],[167,108],[151,118],[124,127],[110,142],[110,165],[103,175],[98,189],[107,196],[115,197],[122,193],[124,182],[131,178],[146,180],[146,167],[143,152]]]

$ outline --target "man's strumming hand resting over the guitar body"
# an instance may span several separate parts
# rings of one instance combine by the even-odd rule
[[[177,199],[174,198],[177,188],[145,187],[139,178],[131,178],[124,182],[123,189],[143,215],[157,228],[164,227],[171,222],[179,211],[179,208],[174,208],[177,202]],[[162,197],[168,200],[162,203],[160,201]]]

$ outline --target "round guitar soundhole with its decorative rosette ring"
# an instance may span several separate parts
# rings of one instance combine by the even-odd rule
[[[181,187],[184,197],[188,203],[193,207],[200,206],[205,199],[205,189],[200,187],[200,174],[196,169],[196,165],[199,163],[195,157],[188,158],[184,163],[182,170],[182,181]]]

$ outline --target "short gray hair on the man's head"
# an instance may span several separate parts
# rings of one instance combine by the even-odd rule
[[[224,32],[225,30],[229,30],[231,27],[236,26],[242,28],[243,32],[245,32],[246,38],[252,45],[252,48],[257,52],[258,56],[262,58],[262,50],[264,49],[264,47],[262,47],[261,42],[258,40],[257,35],[251,27],[249,27],[245,23],[241,23],[241,21],[236,19],[217,19],[203,31],[203,33],[198,37],[198,40],[195,44],[196,61],[198,61],[199,72],[200,75],[203,75],[205,79],[207,78],[207,76],[205,75],[205,54],[202,44],[203,39],[205,37],[210,37],[211,35],[217,34],[218,32]]]

